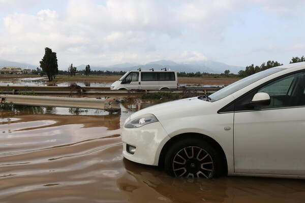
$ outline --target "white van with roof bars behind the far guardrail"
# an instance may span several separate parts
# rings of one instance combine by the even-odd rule
[[[147,89],[147,90],[169,90],[177,89],[176,71],[129,71],[118,81],[115,81],[110,89]]]

